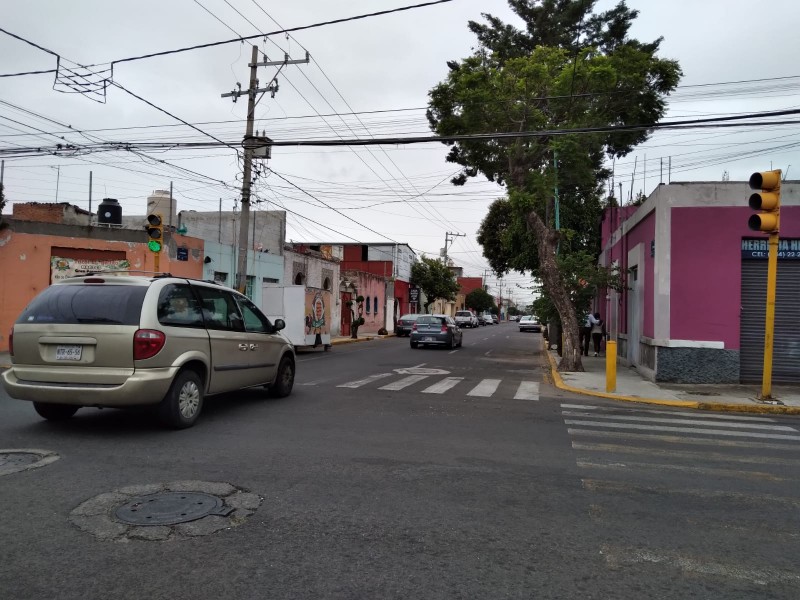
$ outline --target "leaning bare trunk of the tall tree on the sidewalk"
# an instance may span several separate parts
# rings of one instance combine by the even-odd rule
[[[561,277],[561,272],[558,270],[558,263],[556,262],[558,233],[549,229],[541,217],[533,211],[528,214],[528,226],[536,236],[542,284],[550,298],[552,298],[553,304],[555,304],[556,310],[561,317],[564,345],[561,360],[558,363],[558,370],[583,371],[578,317],[575,314],[575,306],[572,304],[569,291],[564,284],[564,278]]]

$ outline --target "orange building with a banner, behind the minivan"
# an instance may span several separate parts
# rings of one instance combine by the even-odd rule
[[[53,281],[87,270],[153,273],[144,230],[90,225],[88,212],[61,204],[15,204],[0,230],[0,352],[19,314]],[[202,279],[204,242],[165,232],[159,271]]]

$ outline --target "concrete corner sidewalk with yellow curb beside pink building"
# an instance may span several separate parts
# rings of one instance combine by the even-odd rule
[[[583,373],[557,371],[559,356],[555,350],[547,351],[547,357],[554,385],[577,394],[700,410],[800,414],[797,386],[773,385],[774,400],[762,402],[758,399],[761,385],[654,383],[634,367],[617,364],[616,389],[606,392],[605,356],[584,356]]]

